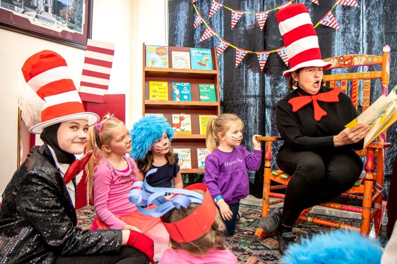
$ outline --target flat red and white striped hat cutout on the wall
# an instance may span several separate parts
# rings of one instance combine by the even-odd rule
[[[78,91],[82,101],[103,103],[103,96],[108,93],[114,53],[113,43],[87,40]]]

